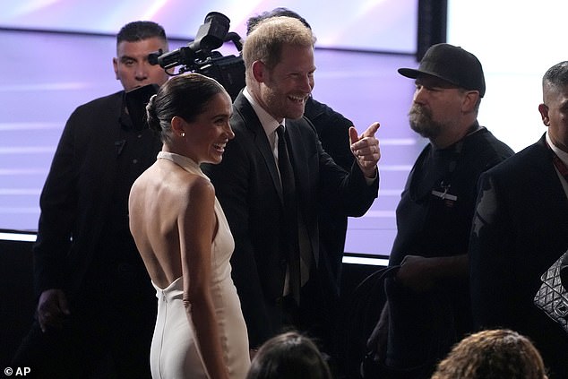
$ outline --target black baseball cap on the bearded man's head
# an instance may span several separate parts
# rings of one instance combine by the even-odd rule
[[[411,79],[427,73],[466,90],[478,90],[481,98],[486,94],[486,80],[478,58],[448,43],[431,46],[417,69],[400,68],[399,73]]]

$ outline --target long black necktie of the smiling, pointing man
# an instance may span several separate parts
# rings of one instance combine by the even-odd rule
[[[292,296],[299,304],[300,299],[300,254],[297,236],[297,202],[296,180],[294,169],[290,163],[288,147],[286,143],[286,130],[280,125],[276,130],[278,134],[278,168],[280,170],[280,182],[282,184],[282,196],[284,202],[284,230],[283,237],[288,250],[289,286]]]

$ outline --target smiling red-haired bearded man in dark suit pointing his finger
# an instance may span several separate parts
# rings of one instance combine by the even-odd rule
[[[204,170],[235,237],[233,279],[250,345],[259,347],[284,326],[325,343],[338,294],[328,257],[320,254],[318,209],[323,199],[350,216],[371,206],[378,192],[379,125],[360,136],[349,130],[357,157],[349,172],[323,151],[314,125],[303,117],[314,87],[314,36],[297,19],[261,22],[246,39],[243,57],[246,87],[231,117],[236,137],[223,162]]]

